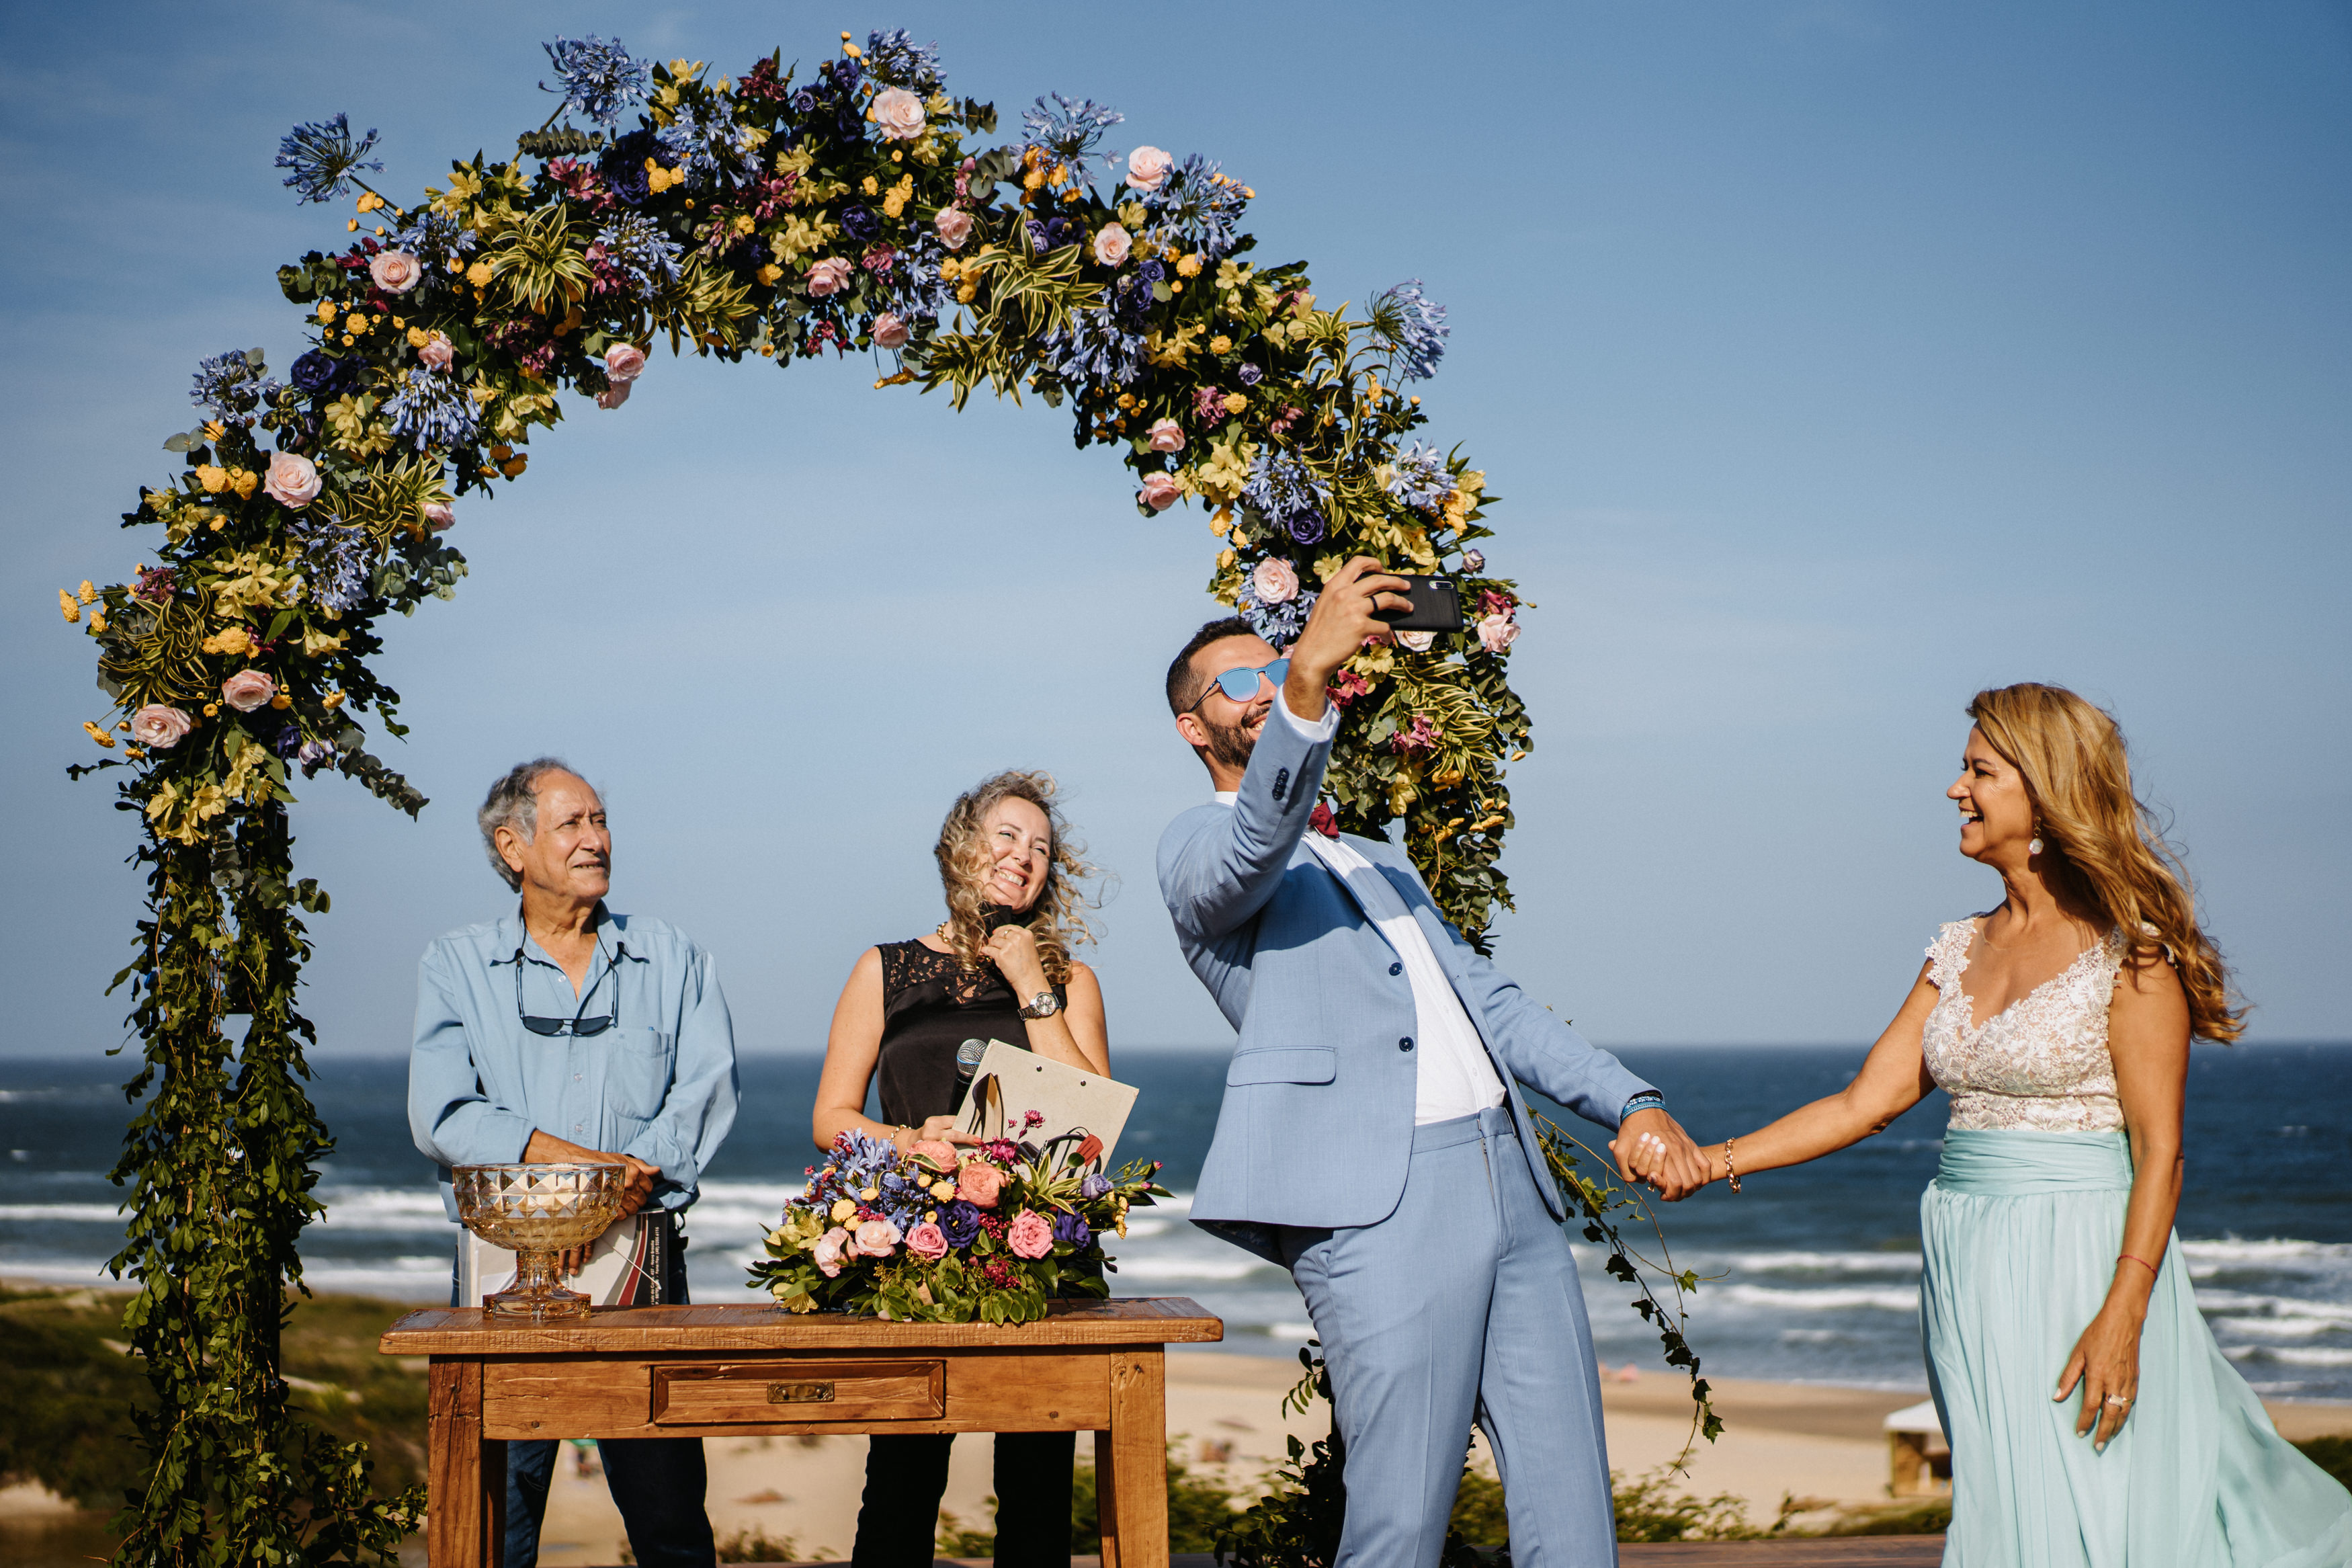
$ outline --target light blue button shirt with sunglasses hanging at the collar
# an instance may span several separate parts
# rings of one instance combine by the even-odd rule
[[[522,1159],[534,1131],[661,1166],[654,1204],[684,1208],[736,1112],[734,1025],[710,954],[644,914],[595,917],[581,992],[522,931],[522,914],[435,938],[416,966],[409,1133],[449,1166]],[[517,959],[520,952],[520,959]],[[602,1034],[534,1034],[534,1018],[607,1018]]]

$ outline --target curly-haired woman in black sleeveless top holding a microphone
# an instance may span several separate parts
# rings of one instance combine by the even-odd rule
[[[833,1009],[811,1133],[844,1131],[969,1143],[955,1112],[974,1063],[967,1039],[1002,1039],[1037,1056],[1110,1072],[1103,987],[1070,957],[1091,940],[1084,879],[1094,875],[1054,802],[1051,773],[1007,771],[960,795],[938,827],[948,919],[906,943],[858,954]],[[882,1121],[866,1117],[880,1077]],[[854,1568],[929,1568],[953,1434],[875,1436],[866,1453]],[[997,1434],[997,1561],[1070,1563],[1070,1432]]]

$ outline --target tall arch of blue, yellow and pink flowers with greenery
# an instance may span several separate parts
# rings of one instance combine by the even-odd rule
[[[903,31],[842,33],[804,82],[781,54],[734,78],[597,38],[548,59],[548,122],[414,205],[365,183],[376,134],[343,115],[285,139],[303,202],[358,190],[343,249],[278,270],[315,346],[285,381],[261,350],[205,360],[207,416],[165,442],[179,473],[122,517],[160,529],[153,564],[59,592],[115,703],[85,724],[108,755],[73,771],[122,769],[148,875],[115,978],[153,1091],[115,1171],[115,1269],[139,1284],[155,1469],[120,1561],[341,1561],[414,1528],[419,1500],[372,1497],[365,1448],[303,1425],[278,1375],[329,1147],[301,1086],[299,912],[327,893],[294,877],[294,771],[426,804],[365,750],[362,715],[405,733],[369,670],[383,618],[454,597],[463,498],[524,475],[564,393],[619,409],[661,343],[779,367],[875,353],[877,388],[1065,407],[1080,449],[1134,470],[1138,512],[1209,510],[1211,597],[1277,644],[1350,555],[1461,578],[1472,635],[1367,646],[1341,675],[1327,792],[1348,827],[1402,818],[1472,940],[1510,903],[1494,863],[1501,769],[1529,745],[1505,684],[1517,597],[1475,548],[1484,475],[1409,440],[1425,416],[1404,386],[1446,334],[1418,282],[1362,320],[1324,310],[1305,263],[1242,259],[1254,193],[1218,165],[1120,160],[1101,148],[1120,115],[1058,94],[988,146],[995,110],[953,99]],[[252,1018],[235,1048],[230,1013]]]

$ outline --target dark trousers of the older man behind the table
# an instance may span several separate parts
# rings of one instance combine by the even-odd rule
[[[687,1239],[670,1234],[661,1300],[687,1302]],[[456,1288],[452,1284],[452,1302]],[[628,1549],[644,1568],[713,1568],[710,1514],[703,1512],[708,1476],[699,1436],[600,1436],[604,1486],[612,1488]],[[503,1568],[539,1566],[539,1521],[548,1514],[557,1443],[506,1446],[506,1556]]]

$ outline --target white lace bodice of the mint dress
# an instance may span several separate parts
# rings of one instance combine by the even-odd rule
[[[1919,1039],[1936,1086],[1952,1095],[1952,1128],[2098,1133],[2124,1126],[2107,1056],[2107,1004],[2124,961],[2124,938],[2084,947],[2063,973],[1985,1018],[1971,1020],[1959,976],[1969,969],[1976,922],[1955,919],[1926,957],[1943,992]]]

